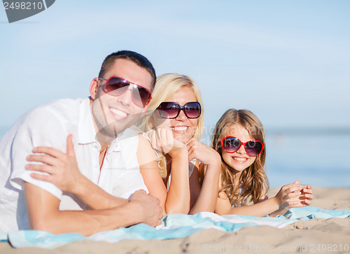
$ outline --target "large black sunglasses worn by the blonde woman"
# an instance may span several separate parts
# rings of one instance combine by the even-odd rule
[[[183,111],[188,118],[199,118],[202,108],[198,101],[188,102],[183,106],[177,102],[165,101],[158,106],[158,110],[162,118],[177,118],[180,111]]]

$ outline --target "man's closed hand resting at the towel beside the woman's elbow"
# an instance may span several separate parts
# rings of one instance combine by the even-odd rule
[[[147,195],[144,190],[137,190],[130,198],[130,203],[137,205],[137,211],[141,212],[141,223],[153,227],[162,223],[162,207],[158,198]]]

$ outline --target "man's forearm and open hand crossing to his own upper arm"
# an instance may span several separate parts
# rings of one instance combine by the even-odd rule
[[[34,155],[29,155],[27,161],[41,164],[27,164],[25,168],[47,174],[32,173],[31,177],[53,183],[60,190],[77,195],[90,209],[109,209],[129,202],[127,199],[110,195],[80,173],[72,135],[67,136],[66,146],[66,153],[44,146],[34,148]]]

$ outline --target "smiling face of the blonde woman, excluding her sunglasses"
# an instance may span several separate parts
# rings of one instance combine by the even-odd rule
[[[176,94],[167,99],[167,101],[177,102],[180,106],[190,101],[197,101],[193,90],[188,87],[182,87]],[[183,111],[180,111],[177,118],[165,119],[160,116],[159,111],[155,111],[155,127],[170,128],[174,138],[187,143],[193,138],[198,125],[198,118],[187,118]]]

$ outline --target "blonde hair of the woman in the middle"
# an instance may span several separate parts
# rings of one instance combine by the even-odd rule
[[[146,117],[142,120],[140,128],[144,132],[150,131],[153,127],[153,120],[155,118],[155,111],[158,106],[163,102],[167,101],[170,97],[172,97],[176,92],[178,92],[181,88],[188,87],[195,94],[196,100],[202,106],[202,97],[200,95],[200,88],[197,86],[195,81],[185,75],[180,75],[176,73],[166,73],[161,76],[158,76],[157,82],[155,83],[155,88],[152,92],[152,99],[150,104],[148,104],[148,110],[146,112]],[[204,119],[203,119],[203,108],[202,113],[198,120],[197,129],[193,137],[195,139],[200,139],[204,128]],[[165,160],[165,155],[160,155],[158,164],[160,167],[160,175],[162,178],[167,176],[167,163]]]

